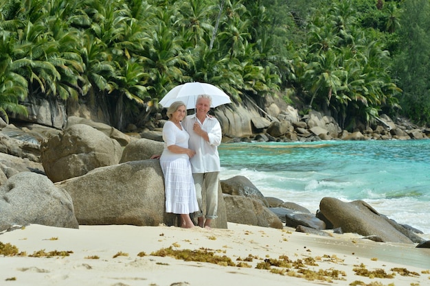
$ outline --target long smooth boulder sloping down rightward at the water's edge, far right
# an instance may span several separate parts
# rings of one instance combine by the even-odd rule
[[[342,202],[336,198],[323,198],[319,209],[333,224],[333,228],[342,228],[345,233],[376,235],[384,241],[412,243],[411,239],[394,228],[383,215],[361,200]]]

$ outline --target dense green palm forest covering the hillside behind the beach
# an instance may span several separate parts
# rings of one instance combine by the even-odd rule
[[[275,95],[352,129],[430,123],[430,1],[0,0],[0,115],[26,97],[144,124],[172,87]]]

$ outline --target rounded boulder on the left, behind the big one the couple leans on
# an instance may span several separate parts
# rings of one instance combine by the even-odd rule
[[[41,161],[53,182],[82,176],[92,169],[120,162],[122,147],[103,132],[76,124],[41,144]]]

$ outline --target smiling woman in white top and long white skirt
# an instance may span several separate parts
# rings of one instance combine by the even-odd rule
[[[190,158],[196,154],[188,148],[190,135],[181,121],[187,115],[183,102],[174,102],[167,110],[168,121],[163,126],[163,153],[160,165],[164,174],[166,191],[166,213],[176,213],[181,217],[182,228],[192,228],[190,213],[199,211],[196,189],[192,178]]]

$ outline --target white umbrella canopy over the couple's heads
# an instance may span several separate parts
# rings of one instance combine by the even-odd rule
[[[222,104],[230,104],[230,97],[220,88],[206,84],[204,82],[187,82],[175,86],[159,102],[163,107],[169,107],[173,102],[184,102],[187,109],[196,108],[196,99],[199,95],[210,95],[212,97],[212,106],[216,107]]]

